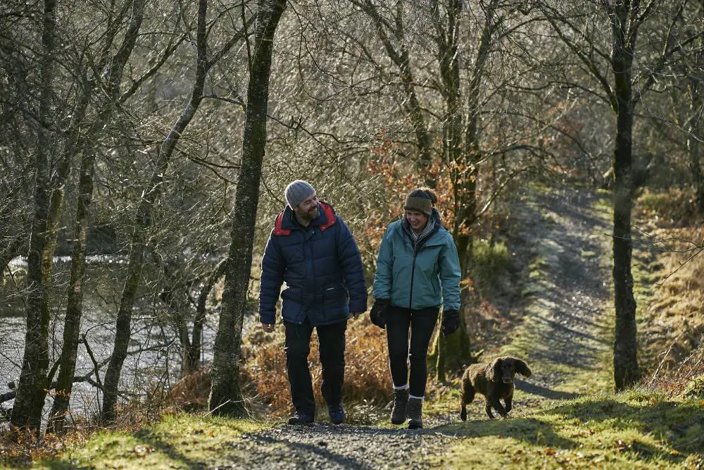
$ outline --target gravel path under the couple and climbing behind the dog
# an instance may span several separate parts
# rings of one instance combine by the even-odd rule
[[[571,370],[595,366],[596,357],[608,346],[598,334],[600,305],[608,296],[599,266],[603,238],[593,237],[594,228],[603,234],[608,226],[591,214],[593,200],[589,193],[565,188],[537,201],[526,197],[515,211],[524,223],[512,249],[528,256],[524,259],[543,260],[542,275],[529,286],[536,294],[524,307],[520,328],[522,341],[536,345],[525,358],[534,376],[517,381],[517,388],[531,395],[517,393],[517,410],[527,409],[523,408],[527,402],[577,395],[558,389]],[[485,419],[483,407],[481,398],[470,405],[468,426],[472,420]],[[230,462],[218,468],[429,468],[427,457],[441,457],[456,439],[443,425],[457,422],[458,416],[424,420],[422,431],[329,423],[268,429],[232,443],[226,452]]]

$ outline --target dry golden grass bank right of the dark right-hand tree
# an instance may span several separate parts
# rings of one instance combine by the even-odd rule
[[[681,390],[704,373],[703,219],[691,192],[671,189],[643,192],[634,221],[636,286],[644,293],[639,299],[644,383]]]

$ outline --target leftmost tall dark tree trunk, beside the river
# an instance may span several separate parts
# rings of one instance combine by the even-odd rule
[[[42,276],[42,256],[46,245],[46,224],[49,217],[49,157],[51,156],[54,116],[51,109],[51,82],[54,77],[56,41],[56,0],[44,0],[41,58],[42,89],[39,91],[39,131],[34,164],[34,216],[30,249],[27,254],[27,333],[25,352],[13,405],[11,423],[39,433],[42,408],[46,397],[49,369],[49,308]]]

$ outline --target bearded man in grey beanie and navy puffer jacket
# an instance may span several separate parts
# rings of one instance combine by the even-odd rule
[[[308,369],[310,335],[318,330],[322,396],[330,421],[342,423],[345,330],[350,315],[367,309],[367,288],[359,248],[344,221],[303,180],[284,192],[287,206],[276,218],[262,259],[259,320],[274,330],[275,307],[282,297],[286,368],[296,413],[289,424],[315,419],[313,383]],[[281,292],[282,283],[286,288]]]

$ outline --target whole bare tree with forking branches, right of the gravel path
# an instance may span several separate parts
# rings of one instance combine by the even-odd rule
[[[631,273],[631,209],[633,207],[633,132],[635,109],[665,69],[698,35],[676,37],[681,10],[689,0],[670,3],[662,0],[623,1],[599,0],[584,4],[583,8],[569,8],[567,4],[548,5],[537,2],[546,20],[558,37],[582,63],[584,70],[596,80],[589,92],[601,97],[615,113],[615,147],[612,159],[614,175],[613,196],[613,281],[615,302],[614,381],[617,390],[634,384],[640,376],[636,342],[636,301],[633,295]],[[565,8],[560,11],[560,7]],[[672,11],[665,16],[670,24],[665,34],[656,39],[655,28],[648,30],[656,12]],[[601,15],[607,19],[601,20]],[[608,28],[608,29],[607,29]],[[650,34],[648,34],[650,33]],[[608,34],[610,51],[601,46]],[[639,54],[639,39],[648,35],[649,57]],[[645,42],[645,41],[643,41]],[[659,45],[658,45],[659,42]],[[654,58],[643,63],[646,58]],[[634,70],[634,64],[639,68]],[[604,71],[608,67],[609,74]],[[583,84],[575,85],[581,89]]]

